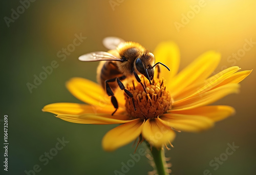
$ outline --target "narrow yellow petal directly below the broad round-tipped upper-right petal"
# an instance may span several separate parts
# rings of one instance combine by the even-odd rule
[[[201,81],[199,83],[191,84],[187,88],[185,88],[182,93],[175,95],[172,94],[173,98],[177,100],[185,99],[190,96],[194,96],[196,94],[206,92],[212,88],[218,86],[218,83],[221,83],[225,80],[228,76],[232,75],[233,73],[237,72],[240,68],[239,67],[230,67],[227,68],[218,74],[209,77],[208,79]]]

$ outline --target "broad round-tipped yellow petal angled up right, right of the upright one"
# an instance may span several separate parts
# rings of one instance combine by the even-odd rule
[[[220,54],[215,51],[208,51],[200,55],[193,63],[169,81],[167,87],[174,96],[190,84],[205,80],[217,67],[220,61]]]

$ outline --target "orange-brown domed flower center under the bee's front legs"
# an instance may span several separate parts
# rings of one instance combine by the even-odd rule
[[[155,118],[172,107],[172,99],[166,91],[164,79],[155,78],[152,84],[144,80],[144,87],[145,89],[137,81],[127,85],[126,89],[133,94],[133,98],[125,95],[125,107],[132,118]]]

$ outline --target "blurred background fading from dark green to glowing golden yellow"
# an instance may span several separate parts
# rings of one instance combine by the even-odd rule
[[[23,2],[23,1],[22,1]],[[111,3],[116,3],[112,7]],[[200,9],[195,9],[202,2]],[[41,108],[53,102],[78,102],[65,88],[71,77],[96,81],[97,62],[80,62],[78,56],[92,51],[106,51],[102,38],[118,36],[137,41],[151,51],[161,41],[175,41],[181,53],[180,70],[207,50],[222,54],[216,71],[234,63],[242,70],[256,67],[256,45],[237,60],[232,53],[243,49],[245,40],[256,41],[256,1],[35,1],[8,23],[19,1],[1,1],[1,116],[9,118],[9,169],[1,174],[26,174],[40,166],[35,174],[115,174],[121,163],[131,159],[132,144],[114,152],[101,148],[101,139],[116,125],[83,125],[62,121]],[[26,5],[28,6],[28,4]],[[193,9],[195,12],[193,12]],[[22,8],[18,9],[22,12]],[[194,15],[193,15],[194,13]],[[188,16],[188,20],[184,16]],[[14,16],[15,17],[15,16]],[[180,28],[175,24],[183,25]],[[75,34],[87,37],[66,60],[57,56],[73,42]],[[56,60],[58,68],[30,93],[42,67]],[[255,70],[254,70],[255,71]],[[241,83],[241,93],[230,95],[215,104],[236,108],[235,116],[216,124],[201,134],[180,133],[172,150],[166,152],[178,174],[255,174],[256,168],[256,74]],[[0,121],[3,138],[3,121]],[[44,165],[39,160],[64,137],[69,143]],[[217,170],[209,162],[219,157],[227,143],[240,146]],[[1,162],[3,139],[1,139]],[[140,145],[143,147],[144,145]],[[147,174],[152,167],[147,158],[125,174]],[[31,173],[33,174],[33,173]]]

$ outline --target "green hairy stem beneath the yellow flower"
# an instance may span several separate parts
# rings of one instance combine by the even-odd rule
[[[165,156],[164,156],[164,149],[152,147],[146,143],[148,148],[151,150],[151,154],[154,158],[154,162],[156,165],[156,170],[158,172],[158,175],[168,175],[166,162],[165,162]]]

